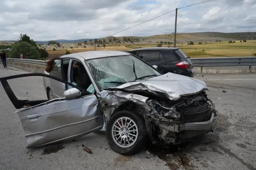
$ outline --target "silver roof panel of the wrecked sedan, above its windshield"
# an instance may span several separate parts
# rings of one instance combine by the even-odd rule
[[[111,56],[120,56],[120,55],[131,55],[130,53],[123,51],[112,51],[112,50],[101,50],[101,51],[86,51],[79,53],[72,53],[61,56],[61,58],[72,57],[72,58],[84,58],[85,60],[102,58],[102,57],[111,57]]]

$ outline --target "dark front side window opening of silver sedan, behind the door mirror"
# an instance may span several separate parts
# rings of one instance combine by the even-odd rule
[[[95,93],[95,88],[81,62],[72,61],[70,79],[72,84],[89,91],[91,94]],[[69,86],[69,88],[72,87]]]

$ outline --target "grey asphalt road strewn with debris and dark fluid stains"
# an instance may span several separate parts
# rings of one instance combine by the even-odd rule
[[[0,66],[0,77],[25,72],[17,71],[21,70]],[[170,150],[149,145],[132,156],[113,152],[99,132],[27,149],[22,124],[0,85],[0,169],[256,169],[256,74],[204,74],[195,78],[207,83],[207,94],[219,111],[214,132]],[[16,79],[10,84],[19,97],[46,98],[42,78]],[[82,145],[93,154],[85,152]]]

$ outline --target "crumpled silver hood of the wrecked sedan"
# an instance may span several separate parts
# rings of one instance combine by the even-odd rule
[[[146,92],[167,97],[170,100],[177,100],[181,96],[193,95],[202,90],[208,90],[208,87],[204,81],[180,74],[166,73],[157,77],[108,88],[108,90],[118,89],[130,92]]]

